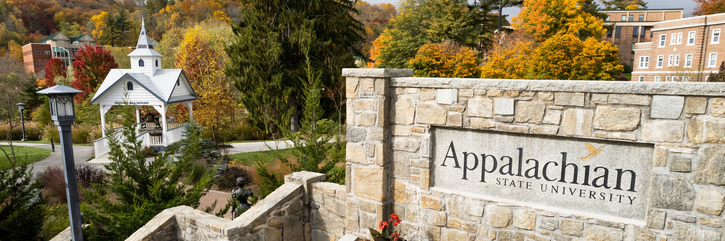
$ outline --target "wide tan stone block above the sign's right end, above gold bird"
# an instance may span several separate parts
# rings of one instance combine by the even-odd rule
[[[597,106],[594,128],[598,130],[637,130],[639,108]]]

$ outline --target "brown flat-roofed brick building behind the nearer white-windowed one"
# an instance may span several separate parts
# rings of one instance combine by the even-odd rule
[[[682,9],[600,9],[608,14],[605,25],[614,24],[614,29],[602,37],[619,48],[622,64],[634,65],[634,44],[649,42],[655,22],[682,18]]]

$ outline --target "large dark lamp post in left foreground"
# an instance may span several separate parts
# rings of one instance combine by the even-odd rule
[[[50,100],[50,119],[58,126],[60,134],[60,150],[63,157],[63,174],[65,176],[65,193],[68,197],[68,216],[70,217],[70,233],[73,241],[83,241],[83,221],[80,219],[78,205],[78,183],[75,181],[75,161],[73,160],[73,144],[70,138],[70,125],[75,119],[73,96],[83,91],[62,85],[58,82],[51,88],[40,90]]]

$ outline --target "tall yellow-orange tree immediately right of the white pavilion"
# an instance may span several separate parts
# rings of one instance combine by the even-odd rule
[[[228,57],[221,45],[226,41],[228,35],[225,30],[204,29],[197,25],[184,35],[175,65],[184,70],[199,96],[194,101],[194,122],[211,130],[213,140],[218,140],[218,130],[231,121],[238,107],[229,80],[224,75]]]

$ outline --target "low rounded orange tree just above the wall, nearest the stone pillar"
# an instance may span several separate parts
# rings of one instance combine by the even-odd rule
[[[408,66],[415,77],[479,77],[479,56],[471,48],[451,41],[426,43],[418,49]]]

